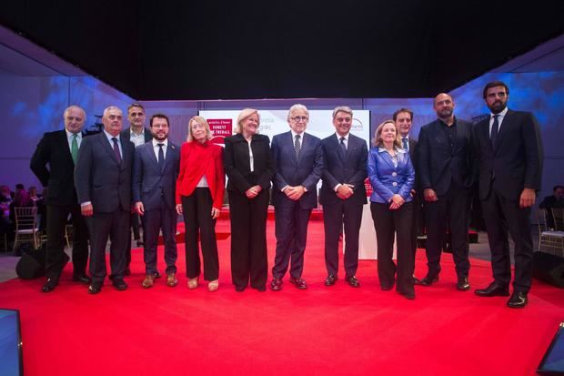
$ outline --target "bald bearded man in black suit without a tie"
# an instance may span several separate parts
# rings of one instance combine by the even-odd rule
[[[433,101],[438,119],[421,127],[418,182],[423,189],[428,273],[421,285],[438,280],[440,254],[448,230],[457,271],[457,289],[469,290],[468,208],[472,188],[472,124],[454,116],[455,103],[441,93]]]

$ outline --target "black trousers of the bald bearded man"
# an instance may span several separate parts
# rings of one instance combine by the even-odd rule
[[[447,225],[450,230],[452,258],[458,277],[468,277],[468,216],[469,193],[467,189],[451,186],[446,195],[435,202],[425,202],[427,228],[428,275],[440,272],[441,249],[445,244]]]

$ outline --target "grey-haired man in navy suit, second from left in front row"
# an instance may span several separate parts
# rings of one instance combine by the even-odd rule
[[[123,113],[107,107],[102,117],[104,129],[86,137],[78,152],[75,185],[78,201],[90,234],[90,275],[88,292],[102,290],[106,278],[106,243],[110,247],[110,266],[116,290],[126,290],[124,271],[131,215],[131,169],[134,145],[119,133]]]

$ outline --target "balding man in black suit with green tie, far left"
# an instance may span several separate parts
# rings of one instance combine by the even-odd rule
[[[82,143],[86,112],[81,107],[65,109],[65,129],[47,132],[39,141],[29,167],[47,188],[45,198],[47,247],[44,292],[55,290],[68,257],[65,254],[65,227],[68,215],[73,223],[73,280],[85,284],[88,261],[88,229],[76,198],[73,170]],[[47,168],[48,165],[48,168]]]

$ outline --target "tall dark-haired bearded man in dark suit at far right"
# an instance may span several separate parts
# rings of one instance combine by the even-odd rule
[[[474,138],[478,193],[488,229],[494,281],[475,292],[482,297],[509,296],[509,229],[515,243],[515,279],[507,304],[522,308],[528,303],[532,279],[530,208],[542,178],[542,141],[537,120],[530,112],[507,107],[509,87],[503,82],[488,83],[483,97],[491,114],[476,125]]]

